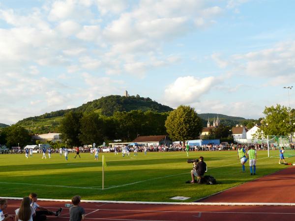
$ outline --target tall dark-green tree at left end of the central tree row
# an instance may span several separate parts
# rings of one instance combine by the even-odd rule
[[[80,119],[82,118],[82,112],[70,111],[64,115],[60,121],[59,131],[61,138],[67,142],[69,146],[80,146]]]

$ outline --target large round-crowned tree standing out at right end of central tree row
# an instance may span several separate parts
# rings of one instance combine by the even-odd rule
[[[165,121],[165,127],[170,138],[180,140],[184,144],[185,140],[199,136],[202,130],[202,120],[194,108],[181,105],[170,112]]]

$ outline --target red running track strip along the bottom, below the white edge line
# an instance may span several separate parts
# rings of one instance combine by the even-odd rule
[[[40,206],[53,211],[68,202],[39,201]],[[14,214],[20,200],[8,200],[7,211]],[[85,203],[87,221],[293,221],[292,206],[197,206]],[[48,217],[48,221],[68,221],[69,209],[63,208],[60,217]]]

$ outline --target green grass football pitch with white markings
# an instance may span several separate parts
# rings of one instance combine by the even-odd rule
[[[25,154],[0,155],[0,196],[23,197],[35,192],[39,198],[70,199],[79,194],[93,200],[176,202],[170,198],[179,195],[191,197],[186,202],[192,202],[287,167],[279,165],[277,158],[267,158],[267,151],[258,151],[256,176],[250,175],[248,162],[246,172],[241,172],[236,151],[190,152],[189,157],[185,152],[131,153],[124,158],[120,153],[104,153],[108,166],[102,190],[102,153],[98,162],[90,153],[81,153],[81,159],[74,156],[70,153],[66,161],[59,154],[51,159],[41,159],[41,154],[29,159]],[[185,184],[192,168],[186,160],[199,156],[207,163],[206,175],[220,184]]]

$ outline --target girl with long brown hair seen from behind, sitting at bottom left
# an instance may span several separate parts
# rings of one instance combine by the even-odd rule
[[[15,210],[15,221],[33,221],[32,216],[35,216],[34,209],[30,206],[30,199],[25,196],[21,202],[19,209]]]

